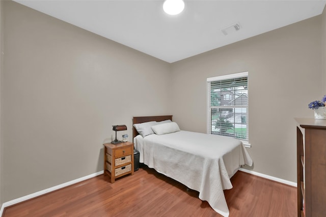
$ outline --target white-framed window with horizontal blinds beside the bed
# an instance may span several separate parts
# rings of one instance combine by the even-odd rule
[[[240,139],[248,146],[248,72],[207,78],[207,94],[207,133]]]

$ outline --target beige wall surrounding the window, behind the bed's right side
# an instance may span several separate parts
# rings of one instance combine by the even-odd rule
[[[313,17],[172,64],[180,128],[206,132],[207,77],[249,71],[250,169],[296,182],[294,117],[313,117],[307,105],[322,97],[320,25]]]

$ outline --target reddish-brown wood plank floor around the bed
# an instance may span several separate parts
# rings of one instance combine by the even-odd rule
[[[296,187],[241,171],[231,181],[230,217],[296,216]],[[99,175],[7,207],[3,216],[221,216],[198,194],[143,166],[113,184]]]

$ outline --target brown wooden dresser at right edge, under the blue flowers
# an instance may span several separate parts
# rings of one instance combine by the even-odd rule
[[[296,118],[297,216],[326,216],[326,120]]]

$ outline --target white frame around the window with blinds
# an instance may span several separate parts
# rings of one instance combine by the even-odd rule
[[[233,79],[233,78],[240,78],[240,77],[247,77],[248,79],[248,105],[247,105],[247,135],[248,135],[248,141],[244,141],[244,140],[240,140],[244,146],[250,148],[251,144],[249,143],[249,73],[248,71],[246,72],[240,72],[240,73],[233,73],[233,74],[227,74],[227,75],[221,75],[221,76],[215,76],[215,77],[208,77],[207,81],[206,81],[206,86],[207,86],[207,90],[206,90],[206,94],[207,94],[207,134],[212,134],[211,133],[211,129],[212,129],[212,123],[211,123],[211,105],[210,105],[210,83],[211,82],[215,82],[215,81],[219,81],[219,80],[227,80],[227,79]],[[222,107],[222,106],[221,106]],[[225,108],[236,108],[236,106],[225,106]],[[222,135],[225,136],[225,135]]]

